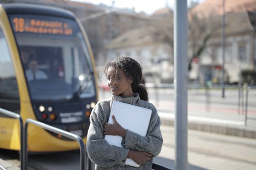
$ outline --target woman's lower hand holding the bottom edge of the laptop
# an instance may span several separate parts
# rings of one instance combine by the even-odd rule
[[[152,155],[147,152],[133,150],[130,150],[127,155],[127,158],[133,159],[139,165],[144,164],[147,160],[151,160],[151,157]]]

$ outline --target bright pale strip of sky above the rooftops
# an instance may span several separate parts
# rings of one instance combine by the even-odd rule
[[[136,12],[141,12],[144,11],[147,14],[152,14],[154,11],[164,8],[166,4],[173,9],[175,0],[151,0],[151,1],[146,1],[146,0],[72,0],[72,1],[77,1],[77,2],[84,2],[84,3],[90,3],[90,4],[105,4],[108,6],[112,5],[112,2],[114,3],[114,7],[117,8],[129,8],[133,9],[135,8]],[[204,0],[187,0],[188,6],[190,3],[194,2],[203,2]]]

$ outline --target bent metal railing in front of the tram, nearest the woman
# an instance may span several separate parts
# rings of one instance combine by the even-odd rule
[[[75,135],[70,132],[67,132],[67,131],[64,131],[64,130],[61,130],[61,129],[58,129],[58,128],[55,128],[53,126],[50,126],[50,125],[47,125],[44,123],[38,122],[38,121],[30,119],[30,118],[28,118],[26,120],[25,128],[24,128],[24,145],[23,145],[23,150],[24,150],[24,164],[23,164],[24,167],[23,168],[24,169],[28,168],[28,125],[29,125],[29,123],[36,125],[40,128],[46,129],[48,131],[61,134],[70,139],[76,140],[79,143],[79,148],[80,148],[80,169],[81,170],[86,169],[85,161],[87,160],[88,164],[89,164],[89,161],[88,161],[88,156],[87,156],[87,152],[86,152],[86,147],[84,146],[83,140],[80,136]]]

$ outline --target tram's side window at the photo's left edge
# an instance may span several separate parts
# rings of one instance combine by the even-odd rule
[[[19,93],[12,59],[0,26],[0,107],[19,113]],[[0,113],[0,116],[4,116]]]

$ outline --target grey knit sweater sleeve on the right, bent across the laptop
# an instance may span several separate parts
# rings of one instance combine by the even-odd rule
[[[152,154],[154,157],[160,153],[162,144],[163,138],[160,130],[160,117],[155,108],[152,110],[147,135],[141,136],[130,130],[126,130],[125,139],[122,141],[124,148],[145,151]]]

